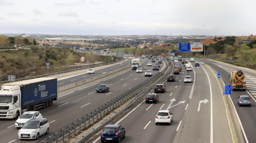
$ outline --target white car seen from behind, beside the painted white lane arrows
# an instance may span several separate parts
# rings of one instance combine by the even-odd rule
[[[171,125],[171,122],[173,122],[173,113],[169,110],[159,110],[156,114],[155,122],[156,125],[158,123],[168,123]]]

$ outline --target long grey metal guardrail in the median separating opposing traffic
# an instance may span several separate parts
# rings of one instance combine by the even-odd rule
[[[165,60],[167,63],[167,61]],[[157,74],[154,74],[152,77],[148,78],[145,81],[142,81],[140,84],[136,85],[135,87],[131,88],[130,90],[127,90],[126,92],[122,93],[121,95],[117,96],[116,98],[112,99],[111,101],[101,105],[100,107],[96,108],[95,110],[91,111],[90,113],[80,117],[79,119],[75,120],[74,122],[70,123],[69,125],[63,127],[62,129],[54,132],[53,134],[49,135],[48,137],[42,139],[38,143],[52,143],[52,142],[58,142],[62,141],[64,142],[65,138],[70,138],[71,135],[77,135],[77,133],[81,132],[82,130],[86,129],[88,126],[92,125],[95,121],[100,120],[106,113],[113,110],[114,108],[118,107],[119,105],[123,104],[126,100],[132,98],[135,96],[138,92],[142,91],[136,96],[136,99],[131,102],[129,105],[132,105],[133,103],[139,101],[139,99],[142,99],[142,96],[146,93],[148,93],[153,86],[156,84],[157,81],[159,81],[162,78],[159,78],[161,75],[167,71],[168,66],[163,69],[163,71],[158,72]],[[171,68],[170,68],[171,69]],[[170,72],[170,69],[168,70],[167,74]],[[156,81],[157,80],[157,81]],[[155,81],[155,82],[154,82]],[[153,83],[154,82],[154,83]],[[153,83],[153,84],[151,84]],[[151,85],[150,85],[151,84]],[[150,85],[148,87],[148,85]],[[142,94],[143,93],[143,94]],[[128,107],[125,107],[126,109]],[[123,111],[123,109],[121,110]],[[120,113],[120,111],[118,112]],[[117,116],[117,113],[115,114]],[[113,119],[109,118],[109,119]],[[107,121],[109,121],[109,119]],[[101,125],[105,125],[104,123]],[[100,127],[98,127],[100,128]],[[91,134],[94,134],[97,129],[94,129],[93,132],[91,132],[89,135],[86,135],[86,137],[90,136]]]

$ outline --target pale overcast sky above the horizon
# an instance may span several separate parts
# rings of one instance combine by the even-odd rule
[[[256,0],[0,0],[0,33],[256,35]]]

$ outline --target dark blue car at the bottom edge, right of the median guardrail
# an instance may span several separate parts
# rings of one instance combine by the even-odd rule
[[[104,141],[117,141],[120,143],[121,138],[125,138],[125,128],[120,125],[106,125],[100,136],[102,143]]]

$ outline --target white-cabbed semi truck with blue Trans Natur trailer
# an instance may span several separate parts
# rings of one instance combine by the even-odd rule
[[[2,85],[0,119],[18,119],[20,114],[47,108],[57,100],[57,78],[42,77]]]

